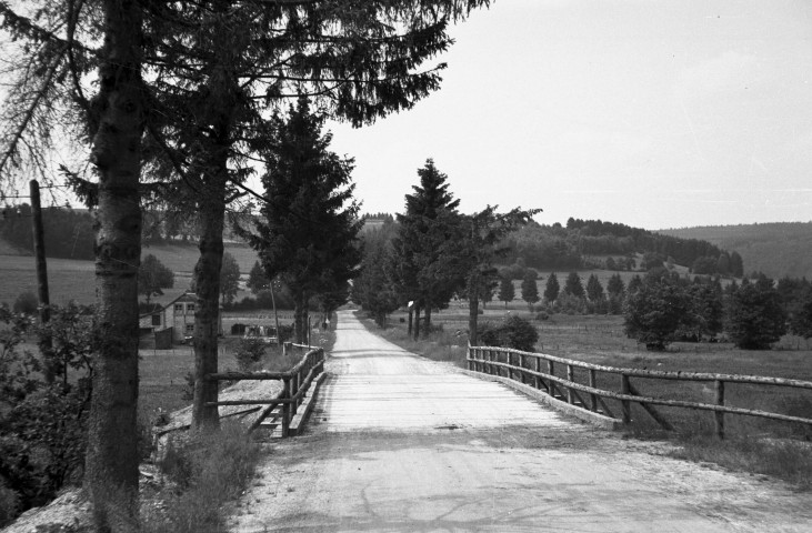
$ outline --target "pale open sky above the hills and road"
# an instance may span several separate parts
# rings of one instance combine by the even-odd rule
[[[452,28],[442,89],[352,129],[362,211],[432,158],[463,212],[645,229],[812,220],[812,2],[495,0]]]

